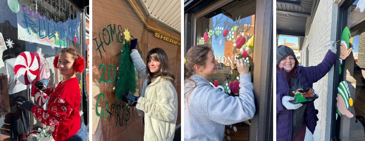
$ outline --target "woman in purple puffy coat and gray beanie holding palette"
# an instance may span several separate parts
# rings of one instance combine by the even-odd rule
[[[336,44],[331,42],[330,50],[317,66],[302,67],[293,50],[285,45],[276,48],[276,140],[304,141],[306,127],[314,133],[318,110],[314,103],[292,104],[294,97],[288,91],[312,88],[330,71],[336,60]]]

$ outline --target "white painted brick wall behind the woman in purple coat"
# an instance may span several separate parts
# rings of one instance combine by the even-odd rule
[[[337,31],[337,12],[338,4],[333,0],[320,0],[314,20],[312,22],[308,35],[310,38],[306,38],[303,43],[303,65],[306,64],[307,52],[306,48],[309,48],[308,65],[318,65],[324,59],[331,41],[336,40]],[[313,89],[319,95],[319,98],[314,101],[315,108],[318,109],[317,126],[313,134],[313,138],[306,140],[314,141],[329,141],[330,140],[330,128],[331,128],[331,110],[332,110],[332,89],[333,89],[333,73],[334,67],[330,72],[326,74],[322,79],[313,84]],[[308,134],[308,133],[307,133]],[[309,134],[311,134],[309,132]]]

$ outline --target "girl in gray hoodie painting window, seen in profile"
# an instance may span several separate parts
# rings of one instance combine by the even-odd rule
[[[237,60],[239,96],[229,96],[211,86],[208,78],[218,73],[211,47],[195,45],[184,64],[184,140],[222,141],[224,125],[253,118],[255,102],[249,67]]]

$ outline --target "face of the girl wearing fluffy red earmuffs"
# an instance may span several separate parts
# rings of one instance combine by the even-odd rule
[[[72,54],[68,52],[61,52],[58,56],[57,67],[59,69],[59,73],[62,75],[73,75],[75,70],[73,70],[74,59],[72,58]]]

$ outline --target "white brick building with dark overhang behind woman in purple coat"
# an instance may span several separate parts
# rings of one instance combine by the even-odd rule
[[[313,84],[319,95],[314,101],[319,119],[314,134],[307,129],[306,141],[365,140],[364,104],[361,102],[365,90],[365,13],[361,12],[361,4],[349,0],[314,0],[309,3],[302,0],[299,5],[277,1],[277,39],[281,35],[298,37],[304,67],[321,63],[330,42],[338,41],[335,64]],[[299,10],[286,9],[285,5],[295,5]],[[340,82],[349,87],[347,99],[338,97],[342,92]],[[339,101],[349,105],[341,110],[343,105]]]

